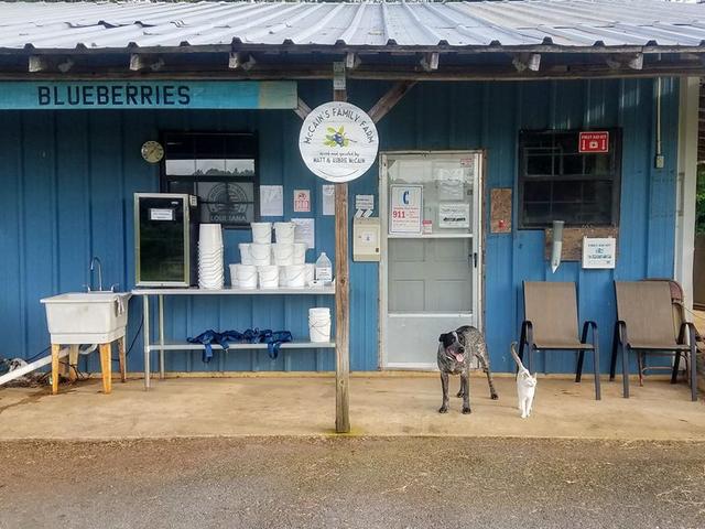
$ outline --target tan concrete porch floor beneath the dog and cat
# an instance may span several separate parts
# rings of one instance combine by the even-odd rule
[[[534,413],[519,418],[513,378],[498,377],[498,401],[484,378],[470,382],[473,413],[453,398],[437,413],[437,376],[354,376],[352,435],[459,435],[618,440],[703,440],[705,402],[690,401],[684,384],[634,381],[621,398],[621,381],[604,381],[594,400],[593,380],[539,380]],[[452,389],[457,391],[457,378]],[[0,390],[0,440],[117,440],[181,436],[327,435],[335,424],[330,377],[174,378],[113,382],[100,392],[97,379],[46,388]]]

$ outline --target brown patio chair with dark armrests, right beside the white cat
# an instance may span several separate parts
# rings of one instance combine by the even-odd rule
[[[575,283],[524,281],[524,317],[521,324],[519,357],[523,360],[524,345],[529,352],[528,368],[531,371],[533,353],[539,350],[576,350],[575,381],[583,375],[585,352],[595,358],[595,399],[600,400],[599,348],[597,324],[585,322],[583,333],[577,331],[577,300]],[[593,342],[587,334],[593,330]],[[533,373],[533,371],[532,371]]]

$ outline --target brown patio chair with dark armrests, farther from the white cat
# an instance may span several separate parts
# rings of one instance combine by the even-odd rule
[[[638,355],[669,352],[674,355],[671,384],[675,384],[681,355],[690,352],[691,399],[697,400],[695,326],[682,322],[674,330],[674,311],[669,281],[615,281],[617,324],[612,343],[609,379],[615,379],[621,352],[623,397],[629,398],[629,353]],[[641,365],[641,358],[640,365]],[[640,368],[641,376],[641,368]]]

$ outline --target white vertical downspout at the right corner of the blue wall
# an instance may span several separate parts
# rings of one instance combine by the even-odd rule
[[[693,310],[693,257],[695,253],[695,191],[697,181],[697,115],[699,78],[681,77],[679,98],[679,160],[675,204],[674,278]]]

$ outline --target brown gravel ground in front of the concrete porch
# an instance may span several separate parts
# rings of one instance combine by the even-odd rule
[[[0,528],[703,528],[705,442],[0,443]]]

